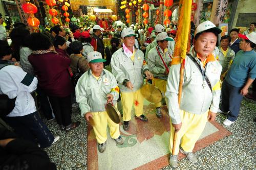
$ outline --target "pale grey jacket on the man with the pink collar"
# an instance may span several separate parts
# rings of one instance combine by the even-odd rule
[[[124,54],[123,48],[119,48],[119,50],[112,55],[111,68],[118,82],[118,86],[123,92],[131,92],[140,89],[144,83],[143,74],[148,70],[148,66],[144,62],[143,52],[136,48],[134,61]],[[133,90],[123,85],[125,79],[133,83]]]

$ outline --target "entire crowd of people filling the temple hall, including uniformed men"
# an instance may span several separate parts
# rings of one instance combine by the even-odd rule
[[[72,121],[72,107],[78,105],[81,116],[94,129],[99,152],[106,149],[107,126],[113,140],[123,144],[119,124],[108,116],[105,104],[113,103],[117,108],[117,101],[121,102],[125,131],[130,129],[133,106],[136,119],[150,122],[143,112],[141,88],[144,79],[151,79],[163,94],[162,102],[155,103],[156,116],[162,117],[162,105],[167,105],[170,116],[166,143],[170,165],[178,166],[179,151],[196,163],[193,149],[206,122],[215,120],[219,112],[227,115],[223,124],[230,126],[238,119],[241,101],[251,84],[255,95],[255,23],[243,34],[231,29],[218,47],[221,30],[210,21],[200,23],[191,34],[180,105],[181,64],[171,65],[178,28],[173,24],[118,25],[111,46],[105,47],[102,39],[108,33],[98,25],[86,31],[70,25],[70,32],[57,25],[45,33],[30,33],[24,24],[17,25],[9,34],[11,45],[7,36],[0,41],[0,94],[8,96],[3,100],[1,96],[1,102],[14,104],[6,105],[1,118],[17,135],[3,138],[5,145],[0,138],[1,149],[8,143],[13,146],[19,141],[15,138],[37,144],[31,145],[34,148],[51,147],[60,137],[52,134],[41,118],[56,121],[62,131],[74,130],[80,122]],[[179,147],[172,153],[174,133]],[[56,168],[44,153],[42,157],[45,167]],[[31,160],[28,163],[33,164]]]

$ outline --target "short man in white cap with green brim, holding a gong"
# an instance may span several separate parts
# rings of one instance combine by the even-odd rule
[[[79,103],[81,116],[92,123],[98,142],[99,152],[106,149],[106,128],[110,127],[110,135],[117,144],[123,144],[120,136],[119,124],[114,123],[105,110],[105,104],[113,102],[115,107],[119,96],[116,79],[111,72],[103,69],[103,62],[99,52],[88,54],[87,61],[90,69],[80,77],[76,85],[76,101]]]

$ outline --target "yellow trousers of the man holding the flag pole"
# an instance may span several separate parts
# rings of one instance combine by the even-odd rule
[[[181,116],[181,129],[177,132],[175,154],[179,154],[179,147],[186,152],[192,152],[195,143],[202,134],[205,125],[208,121],[208,111],[204,114],[193,114],[183,110],[180,110]],[[174,127],[172,126],[172,119],[170,119],[170,142],[169,151],[172,154],[174,140]]]

